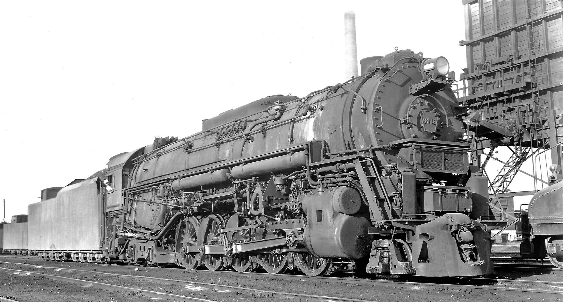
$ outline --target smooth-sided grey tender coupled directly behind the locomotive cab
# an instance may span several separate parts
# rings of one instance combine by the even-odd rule
[[[109,260],[101,179],[95,175],[47,191],[28,206],[31,253],[47,260]]]

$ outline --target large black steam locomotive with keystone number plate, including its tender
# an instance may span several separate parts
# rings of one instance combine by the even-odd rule
[[[29,206],[29,250],[309,276],[492,273],[497,222],[448,61],[406,49],[360,64],[358,78],[231,109],[46,192]]]

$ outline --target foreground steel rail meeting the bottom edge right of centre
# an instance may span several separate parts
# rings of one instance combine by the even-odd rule
[[[306,295],[306,294],[296,294],[296,293],[293,293],[293,292],[267,291],[267,290],[251,289],[251,288],[248,288],[248,287],[218,285],[218,284],[215,284],[215,283],[174,280],[174,279],[148,277],[148,276],[134,276],[134,275],[128,275],[128,274],[114,274],[114,273],[105,273],[105,272],[98,272],[98,271],[88,271],[88,270],[84,270],[84,269],[44,267],[42,265],[34,265],[34,264],[26,264],[26,263],[14,263],[14,262],[0,262],[0,263],[11,263],[11,264],[19,264],[19,265],[23,264],[23,265],[32,266],[34,268],[46,268],[46,269],[58,269],[58,270],[62,269],[62,270],[65,270],[65,271],[73,271],[73,272],[86,272],[86,273],[104,274],[104,275],[107,275],[107,276],[114,276],[114,277],[119,277],[119,278],[129,278],[129,279],[136,279],[136,280],[141,280],[141,281],[153,281],[153,282],[174,284],[174,285],[184,285],[184,286],[185,285],[198,285],[198,286],[201,286],[201,287],[205,287],[207,289],[248,292],[249,294],[258,295],[258,296],[268,296],[268,297],[284,296],[284,298],[300,297],[300,298],[307,298],[308,300],[313,300],[313,301],[330,300],[330,301],[350,301],[350,302],[376,302],[376,301],[373,301],[373,300],[360,300],[360,299],[350,299],[350,298],[338,298],[338,297],[332,297],[332,296]],[[0,269],[8,269],[8,268],[0,267]],[[10,269],[10,270],[12,270],[12,269]],[[17,270],[14,270],[14,271],[17,271]],[[53,276],[53,275],[48,275],[48,276]],[[63,277],[63,278],[66,278],[66,277]],[[205,301],[207,301],[207,300],[205,300]]]

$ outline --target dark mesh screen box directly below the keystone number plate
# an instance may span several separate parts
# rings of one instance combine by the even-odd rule
[[[448,148],[420,147],[422,170],[463,173],[466,168],[466,151]]]

